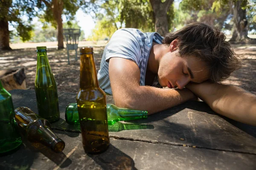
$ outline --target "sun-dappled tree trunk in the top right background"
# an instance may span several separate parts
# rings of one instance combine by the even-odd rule
[[[229,42],[231,43],[251,43],[256,42],[250,39],[248,34],[248,21],[246,20],[246,9],[242,9],[242,0],[236,1],[233,9],[233,32]]]

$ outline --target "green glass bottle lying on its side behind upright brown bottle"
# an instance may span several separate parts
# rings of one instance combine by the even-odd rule
[[[108,125],[113,125],[116,122],[125,120],[147,119],[148,111],[138,111],[126,108],[118,108],[116,105],[107,104]],[[67,105],[65,119],[68,124],[79,124],[79,116],[77,103]]]

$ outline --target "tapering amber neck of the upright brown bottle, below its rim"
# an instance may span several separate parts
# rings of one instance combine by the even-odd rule
[[[81,54],[80,88],[99,88],[93,54]]]

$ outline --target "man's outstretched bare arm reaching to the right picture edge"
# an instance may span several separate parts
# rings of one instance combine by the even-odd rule
[[[233,85],[212,82],[189,83],[186,88],[216,113],[256,126],[256,95]]]

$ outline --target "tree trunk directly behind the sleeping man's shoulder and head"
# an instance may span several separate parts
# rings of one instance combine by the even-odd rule
[[[167,11],[173,3],[173,0],[166,0],[164,3],[161,0],[150,0],[155,17],[155,31],[161,36],[169,33]]]

